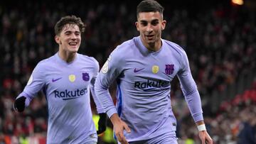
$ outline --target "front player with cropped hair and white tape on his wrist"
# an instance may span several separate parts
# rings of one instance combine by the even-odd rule
[[[161,39],[164,8],[144,0],[137,6],[140,35],[110,54],[95,82],[95,94],[114,126],[119,143],[175,144],[176,118],[171,109],[171,80],[177,75],[202,143],[213,143],[203,122],[201,99],[186,52]],[[108,88],[117,82],[114,106]]]

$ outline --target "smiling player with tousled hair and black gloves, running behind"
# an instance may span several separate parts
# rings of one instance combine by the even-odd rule
[[[55,24],[58,52],[36,65],[25,89],[14,102],[14,109],[21,112],[43,89],[48,102],[48,144],[97,143],[90,92],[100,113],[98,133],[106,128],[107,114],[94,92],[100,69],[98,62],[93,57],[78,53],[84,31],[85,24],[76,16],[65,16]]]

